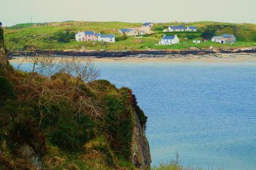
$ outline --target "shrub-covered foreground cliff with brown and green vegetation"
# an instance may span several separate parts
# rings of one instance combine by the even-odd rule
[[[2,56],[6,58],[3,36]],[[146,116],[128,88],[0,67],[0,169],[147,169]]]

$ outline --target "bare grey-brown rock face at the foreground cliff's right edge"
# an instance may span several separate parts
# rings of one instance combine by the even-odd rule
[[[145,127],[140,124],[137,113],[134,112],[135,126],[133,127],[132,139],[132,160],[139,169],[150,167],[151,156],[148,139],[145,134]]]

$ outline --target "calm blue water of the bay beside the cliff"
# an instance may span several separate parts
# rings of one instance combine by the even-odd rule
[[[148,116],[152,165],[256,169],[256,63],[97,63]],[[30,65],[24,65],[28,69]]]

